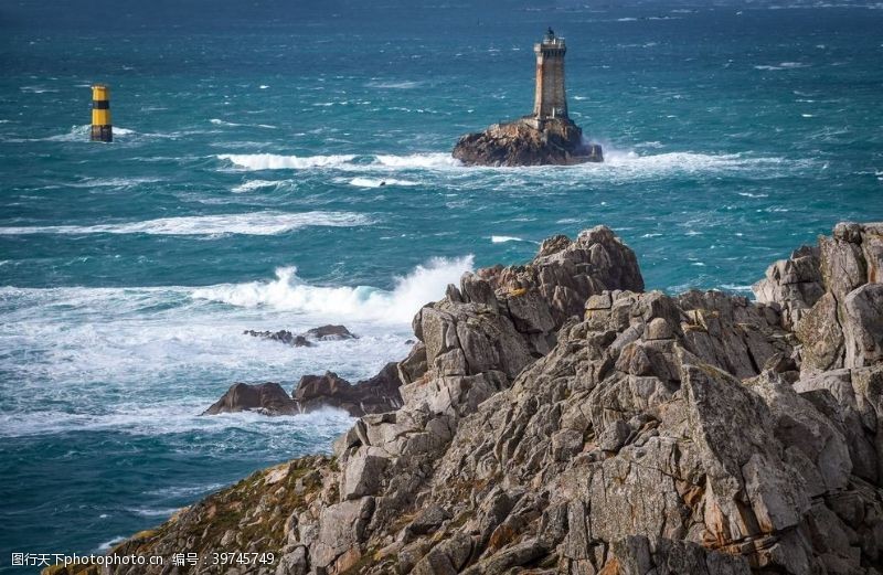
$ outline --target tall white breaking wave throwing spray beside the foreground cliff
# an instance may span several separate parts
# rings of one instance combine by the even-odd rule
[[[472,264],[472,256],[432,258],[397,278],[391,291],[371,286],[312,286],[298,278],[297,268],[290,266],[278,268],[272,281],[211,286],[194,290],[192,297],[245,308],[406,323],[421,307],[439,299],[448,284],[456,284],[464,271],[471,270]]]

